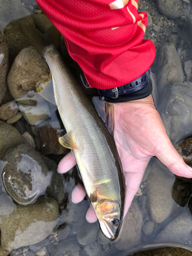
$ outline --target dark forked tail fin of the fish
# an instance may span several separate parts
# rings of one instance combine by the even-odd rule
[[[34,27],[28,27],[24,24],[19,24],[19,27],[30,41],[32,46],[41,55],[43,55],[44,48],[46,46],[60,46],[60,32],[54,26],[49,28],[46,34],[41,34],[38,29]]]

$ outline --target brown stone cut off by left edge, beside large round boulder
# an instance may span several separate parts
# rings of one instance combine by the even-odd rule
[[[9,65],[9,52],[6,38],[0,30],[0,103],[2,102],[7,90],[6,76]]]

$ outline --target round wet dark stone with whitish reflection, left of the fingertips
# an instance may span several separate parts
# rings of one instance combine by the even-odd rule
[[[51,181],[47,165],[30,146],[19,144],[9,150],[2,181],[6,193],[18,204],[28,205],[45,193]]]

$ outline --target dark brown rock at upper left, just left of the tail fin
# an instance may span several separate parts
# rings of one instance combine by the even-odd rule
[[[19,27],[20,23],[25,24],[26,26],[35,26],[31,15],[29,15],[14,20],[5,27],[4,33],[9,47],[9,61],[11,63],[13,63],[20,51],[30,46],[30,42]]]

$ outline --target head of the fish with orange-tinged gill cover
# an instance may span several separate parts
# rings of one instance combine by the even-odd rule
[[[104,200],[96,208],[101,230],[105,237],[114,240],[118,237],[122,223],[122,212],[117,201]]]

